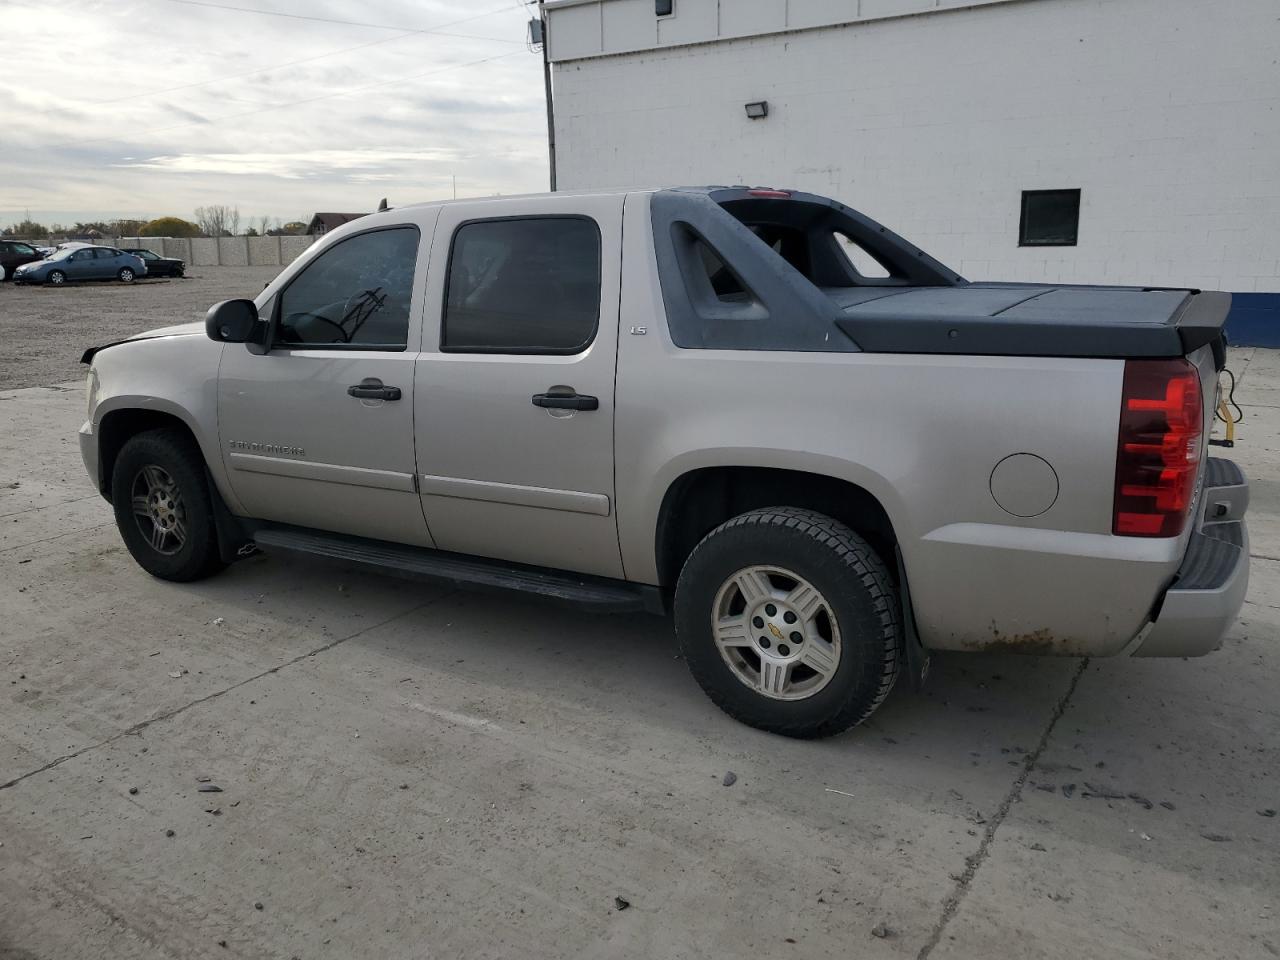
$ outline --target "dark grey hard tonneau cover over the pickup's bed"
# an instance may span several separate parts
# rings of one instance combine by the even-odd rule
[[[970,283],[827,288],[836,325],[877,353],[1180,357],[1221,337],[1229,293]]]

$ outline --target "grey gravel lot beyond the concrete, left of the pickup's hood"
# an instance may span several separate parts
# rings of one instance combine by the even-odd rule
[[[220,300],[253,297],[279,266],[191,268],[180,280],[19,287],[0,283],[0,390],[79,379],[86,347],[204,320]]]

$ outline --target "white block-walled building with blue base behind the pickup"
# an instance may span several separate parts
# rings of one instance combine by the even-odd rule
[[[559,188],[810,189],[972,279],[1230,291],[1280,346],[1280,0],[663,6],[547,0]],[[1074,246],[1024,191],[1079,191]]]

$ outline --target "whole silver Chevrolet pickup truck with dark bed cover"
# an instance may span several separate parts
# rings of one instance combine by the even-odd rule
[[[261,548],[668,613],[724,710],[824,736],[931,650],[1221,643],[1228,307],[969,283],[794,191],[425,204],[86,351],[79,439],[157,577]]]

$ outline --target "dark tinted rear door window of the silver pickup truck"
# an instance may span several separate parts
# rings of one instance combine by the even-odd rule
[[[595,338],[599,317],[594,220],[475,220],[454,232],[440,349],[577,353]]]

